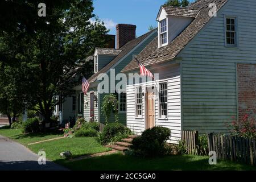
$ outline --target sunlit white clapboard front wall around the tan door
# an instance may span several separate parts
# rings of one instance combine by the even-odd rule
[[[153,73],[159,73],[159,82],[167,81],[168,106],[167,119],[158,118],[158,94],[155,96],[155,126],[163,126],[171,129],[171,140],[176,143],[181,133],[181,100],[180,100],[180,73],[179,64],[168,66],[168,68],[155,69]],[[150,82],[143,83],[144,90]],[[139,85],[127,85],[127,126],[137,134],[145,130],[145,98],[142,96],[142,118],[135,117],[135,87]],[[158,88],[158,85],[157,85]]]

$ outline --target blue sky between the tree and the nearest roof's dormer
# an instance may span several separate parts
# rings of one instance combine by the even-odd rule
[[[166,0],[94,0],[94,14],[104,20],[109,34],[115,35],[118,23],[135,24],[138,36],[150,25],[156,26],[156,15]]]

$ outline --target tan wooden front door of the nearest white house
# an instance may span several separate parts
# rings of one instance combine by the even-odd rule
[[[146,93],[146,129],[155,126],[155,94],[154,92]]]

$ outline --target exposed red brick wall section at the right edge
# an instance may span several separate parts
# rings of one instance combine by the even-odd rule
[[[237,64],[238,117],[256,114],[256,64]]]

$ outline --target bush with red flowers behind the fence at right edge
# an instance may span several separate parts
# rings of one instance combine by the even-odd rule
[[[245,114],[241,121],[234,119],[228,128],[232,136],[256,138],[256,121],[249,114]]]

